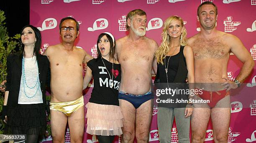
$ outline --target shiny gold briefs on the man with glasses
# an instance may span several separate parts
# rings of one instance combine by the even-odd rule
[[[55,110],[70,116],[73,112],[84,106],[84,97],[81,96],[77,100],[67,102],[50,102],[50,110]]]

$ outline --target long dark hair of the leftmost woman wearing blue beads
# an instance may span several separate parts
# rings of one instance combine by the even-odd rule
[[[20,34],[22,34],[22,31],[27,27],[30,27],[34,31],[35,36],[36,36],[36,42],[35,42],[35,46],[34,46],[34,50],[33,50],[33,55],[36,56],[36,60],[37,60],[40,55],[39,51],[41,48],[41,33],[36,27],[34,27],[32,25],[26,25],[22,28]],[[21,36],[20,36],[20,43],[21,43],[20,46],[21,46],[21,50],[22,50],[22,54],[20,55],[21,56],[20,58],[22,58],[23,55],[25,56],[25,52],[24,52],[25,45],[21,41]]]

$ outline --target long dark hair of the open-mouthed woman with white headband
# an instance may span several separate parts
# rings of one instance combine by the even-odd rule
[[[108,41],[110,42],[110,51],[109,51],[109,61],[111,61],[111,59],[113,60],[113,62],[116,61],[115,59],[115,42],[113,42],[112,38],[110,35],[108,35],[107,33],[101,33],[98,37],[98,40],[97,40],[97,53],[98,53],[98,57],[97,57],[97,60],[101,59],[102,55],[100,53],[100,49],[98,47],[98,43],[100,43],[100,39],[103,37],[103,36],[107,36],[108,38]],[[114,39],[115,40],[115,39]]]

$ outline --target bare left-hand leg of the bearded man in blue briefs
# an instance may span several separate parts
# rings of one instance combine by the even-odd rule
[[[123,114],[123,135],[122,135],[122,143],[133,143],[134,135],[135,135],[135,107],[126,100],[119,99],[119,106],[122,109]]]

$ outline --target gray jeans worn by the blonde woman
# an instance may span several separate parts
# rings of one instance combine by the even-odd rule
[[[171,143],[171,129],[175,116],[179,143],[189,143],[190,117],[185,118],[185,108],[158,107],[157,125],[160,143]]]

